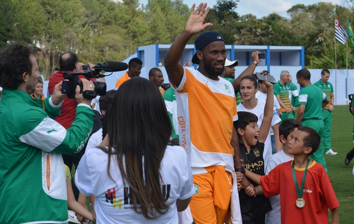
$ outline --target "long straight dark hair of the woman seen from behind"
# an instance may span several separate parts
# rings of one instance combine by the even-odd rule
[[[107,119],[109,177],[110,159],[116,155],[133,210],[147,219],[165,214],[169,204],[162,194],[160,168],[172,126],[159,88],[139,77],[124,82]]]

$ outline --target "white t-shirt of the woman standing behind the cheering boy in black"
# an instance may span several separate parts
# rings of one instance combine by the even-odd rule
[[[259,128],[261,128],[261,124],[264,118],[264,107],[265,103],[261,102],[258,100],[257,105],[253,109],[246,109],[243,106],[243,103],[240,103],[237,106],[237,110],[240,111],[246,111],[254,114],[255,116],[258,117],[258,122],[257,125]],[[273,109],[273,118],[271,120],[270,126],[274,126],[280,122],[280,117],[278,116],[278,113],[275,109]],[[264,141],[264,152],[263,152],[263,159],[264,159],[264,165],[267,164],[269,158],[271,156],[271,141],[270,141],[270,132],[268,132],[268,136],[266,140]]]

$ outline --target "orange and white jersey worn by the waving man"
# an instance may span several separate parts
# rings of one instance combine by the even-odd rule
[[[238,116],[232,84],[184,69],[178,88],[171,86],[176,89],[180,144],[190,158],[192,172],[207,173],[203,167],[211,165],[224,165],[233,171],[230,141]]]

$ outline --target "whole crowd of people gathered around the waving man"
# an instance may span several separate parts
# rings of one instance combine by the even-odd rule
[[[202,32],[209,10],[193,5],[168,50],[167,90],[160,68],[140,78],[143,62],[133,58],[116,90],[92,102],[85,91],[95,79],[79,77],[70,99],[63,73],[83,64],[68,51],[45,98],[31,48],[0,53],[1,223],[66,223],[68,209],[86,223],[328,223],[329,209],[339,223],[324,158],[337,154],[329,71],[312,84],[299,70],[298,91],[288,71],[276,84],[268,71],[258,79],[254,51],[236,78],[222,35]],[[192,69],[180,61],[200,32]]]

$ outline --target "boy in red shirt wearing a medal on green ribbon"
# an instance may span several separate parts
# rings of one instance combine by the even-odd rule
[[[339,202],[324,167],[308,157],[317,151],[320,135],[310,127],[291,133],[288,153],[293,161],[276,166],[268,175],[246,170],[246,177],[262,185],[266,197],[280,194],[282,223],[339,223]]]

